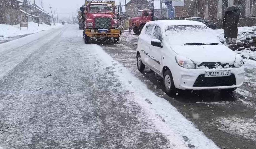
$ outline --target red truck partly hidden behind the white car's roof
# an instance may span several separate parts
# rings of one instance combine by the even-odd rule
[[[152,11],[153,10],[150,9],[139,10],[137,17],[130,19],[130,29],[132,29],[135,34],[140,34],[146,22],[154,19],[154,12]]]

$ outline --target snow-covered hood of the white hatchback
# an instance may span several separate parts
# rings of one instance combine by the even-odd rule
[[[202,62],[220,62],[222,64],[233,64],[236,54],[228,47],[220,45],[175,45],[171,49],[180,56],[185,56],[196,64]]]

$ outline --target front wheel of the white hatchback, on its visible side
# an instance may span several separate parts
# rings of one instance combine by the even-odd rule
[[[177,93],[177,89],[175,88],[172,73],[170,70],[165,71],[163,83],[165,87],[165,93],[167,95],[172,96]]]

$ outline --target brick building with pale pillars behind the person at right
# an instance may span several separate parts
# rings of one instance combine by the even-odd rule
[[[182,1],[182,0],[181,0]],[[206,20],[222,19],[224,10],[241,5],[241,18],[254,17],[255,0],[183,0],[184,6],[173,7],[173,0],[163,0],[168,7],[168,17],[201,17]],[[254,8],[255,7],[255,8]],[[172,12],[169,12],[173,10]]]

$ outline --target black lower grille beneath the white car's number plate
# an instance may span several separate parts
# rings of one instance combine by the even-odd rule
[[[204,77],[199,75],[195,80],[193,87],[214,87],[214,86],[232,86],[236,85],[236,78],[234,74],[229,77]]]

